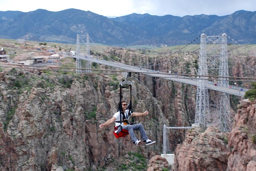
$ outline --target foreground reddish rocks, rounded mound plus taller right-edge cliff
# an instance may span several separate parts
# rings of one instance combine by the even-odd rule
[[[230,133],[193,128],[176,147],[174,171],[255,171],[256,103],[240,101]]]

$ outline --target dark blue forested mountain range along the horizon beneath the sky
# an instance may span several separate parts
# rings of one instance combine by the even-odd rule
[[[256,12],[240,10],[227,16],[152,16],[130,14],[108,18],[90,11],[0,11],[0,38],[75,43],[89,34],[99,44],[173,46],[190,44],[202,33],[228,35],[228,42],[256,44]],[[199,43],[199,41],[197,42]]]

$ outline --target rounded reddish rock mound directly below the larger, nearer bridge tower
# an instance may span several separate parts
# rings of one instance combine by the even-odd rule
[[[204,133],[198,128],[188,130],[183,144],[175,151],[175,171],[226,171],[228,134],[214,127]]]

